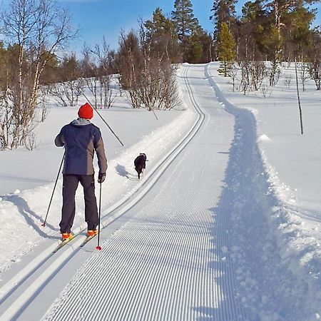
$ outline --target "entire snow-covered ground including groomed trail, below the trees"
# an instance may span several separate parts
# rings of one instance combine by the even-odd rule
[[[118,96],[101,115],[124,147],[93,118],[108,156],[101,251],[98,238],[81,246],[79,187],[77,236],[53,253],[61,175],[41,227],[63,156],[54,138],[77,108],[49,103],[36,151],[0,153],[1,321],[320,320],[321,93],[312,81],[300,92],[301,135],[284,83],[294,66],[265,97],[233,92],[217,68],[183,64],[181,104],[158,120]]]

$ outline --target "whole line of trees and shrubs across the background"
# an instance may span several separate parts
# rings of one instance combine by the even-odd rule
[[[58,1],[10,0],[0,16],[0,149],[35,147],[33,130],[46,118],[48,93],[61,106],[76,106],[86,90],[95,108],[109,108],[112,75],[133,108],[148,111],[179,103],[175,68],[182,62],[220,60],[225,76],[235,78],[241,70],[239,87],[246,92],[260,85],[263,61],[271,61],[270,84],[281,61],[300,61],[310,63],[307,72],[319,79],[320,89],[320,29],[312,29],[312,2],[248,1],[238,17],[235,0],[215,0],[208,32],[191,0],[175,0],[170,16],[158,7],[151,19],[138,21],[137,30],[120,31],[117,50],[102,39],[93,47],[84,44],[76,56],[66,50],[78,31]]]

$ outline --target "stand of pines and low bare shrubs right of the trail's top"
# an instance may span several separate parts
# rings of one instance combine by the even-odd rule
[[[233,78],[233,88],[237,73],[244,93],[261,88],[264,77],[269,78],[269,86],[275,86],[282,62],[294,62],[300,68],[303,90],[307,77],[320,90],[321,33],[320,26],[312,27],[317,10],[311,7],[318,1],[248,1],[240,17],[235,14],[235,0],[214,2],[210,18],[215,56],[221,61],[220,73]]]

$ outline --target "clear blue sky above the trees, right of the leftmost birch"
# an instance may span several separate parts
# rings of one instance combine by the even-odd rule
[[[138,18],[151,19],[159,6],[165,16],[174,9],[174,0],[60,0],[71,14],[73,25],[80,29],[81,38],[77,41],[78,50],[83,42],[93,46],[105,36],[111,49],[118,48],[118,35],[121,29],[138,29]],[[213,0],[194,0],[193,11],[200,25],[207,31],[213,30],[209,20]],[[79,49],[80,48],[80,49]]]

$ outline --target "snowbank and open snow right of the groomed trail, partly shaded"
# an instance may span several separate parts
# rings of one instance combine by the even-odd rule
[[[218,76],[217,68],[218,63],[209,65],[208,79],[218,100],[236,119],[226,179],[234,199],[233,239],[238,246],[232,255],[239,266],[243,303],[251,307],[255,303],[253,317],[260,315],[260,320],[289,320],[293,311],[295,320],[317,320],[321,315],[321,151],[310,150],[320,145],[317,97],[311,98],[311,92],[301,97],[305,113],[314,115],[312,122],[305,118],[302,140],[297,118],[280,104],[290,95],[282,86],[274,89],[275,98],[265,100],[258,93],[243,96],[230,91],[228,79]],[[321,93],[317,95],[321,98]],[[307,185],[307,190],[301,187]]]

